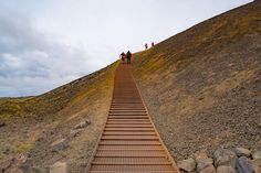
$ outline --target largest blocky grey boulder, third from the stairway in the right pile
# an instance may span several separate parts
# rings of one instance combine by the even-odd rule
[[[215,166],[228,165],[236,169],[237,155],[228,149],[218,149],[213,153]]]

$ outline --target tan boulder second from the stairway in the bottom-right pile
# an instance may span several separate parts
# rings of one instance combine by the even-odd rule
[[[213,160],[211,158],[208,158],[206,153],[200,153],[196,156],[197,161],[197,172],[211,170]],[[208,167],[208,169],[207,169]],[[215,169],[213,169],[215,170]]]

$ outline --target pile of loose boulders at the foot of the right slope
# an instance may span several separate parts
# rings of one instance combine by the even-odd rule
[[[177,165],[182,173],[260,173],[261,149],[252,152],[244,148],[218,149],[212,158],[198,152]]]

